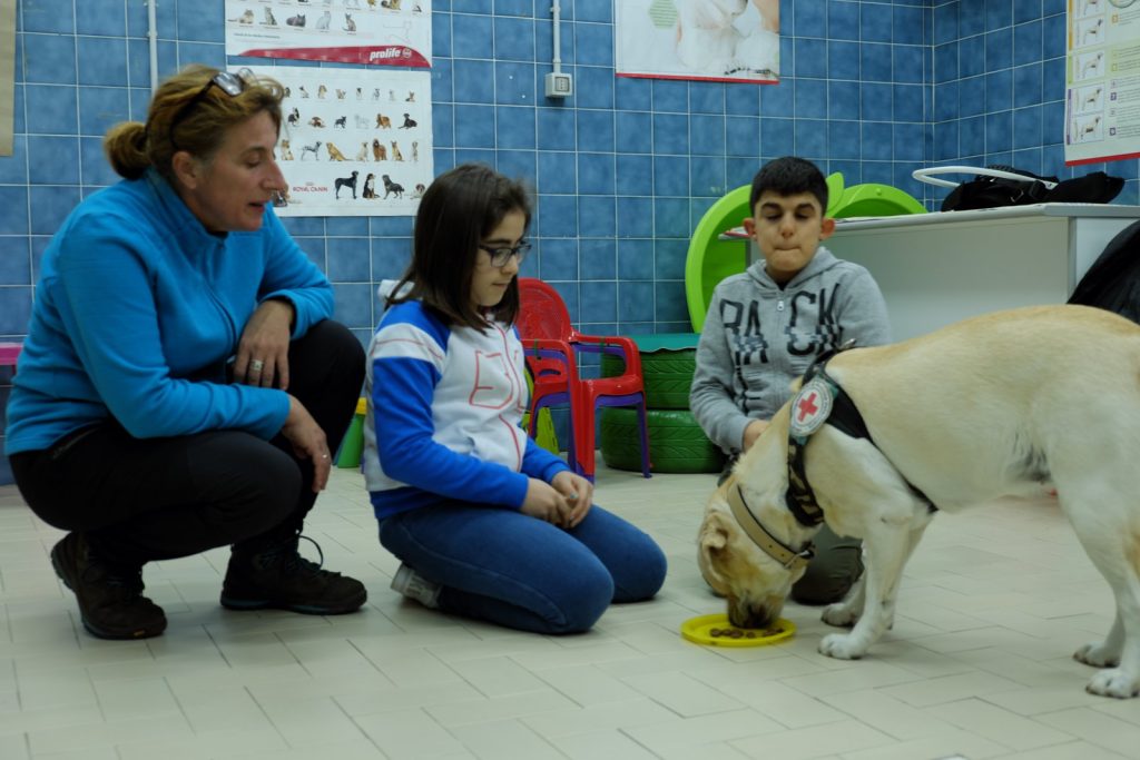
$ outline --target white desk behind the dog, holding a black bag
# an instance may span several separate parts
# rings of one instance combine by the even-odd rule
[[[1043,203],[839,220],[824,245],[866,267],[895,340],[987,311],[1064,303],[1140,206]]]

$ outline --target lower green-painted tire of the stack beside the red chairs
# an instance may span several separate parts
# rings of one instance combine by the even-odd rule
[[[718,473],[725,456],[687,409],[650,409],[650,469],[654,473]],[[637,410],[608,407],[601,419],[602,460],[614,469],[641,472]]]

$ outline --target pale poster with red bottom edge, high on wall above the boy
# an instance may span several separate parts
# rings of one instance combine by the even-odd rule
[[[780,0],[619,0],[618,76],[780,81]]]

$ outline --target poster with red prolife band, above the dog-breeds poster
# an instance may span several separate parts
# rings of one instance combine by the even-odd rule
[[[226,54],[431,66],[431,0],[226,0]]]

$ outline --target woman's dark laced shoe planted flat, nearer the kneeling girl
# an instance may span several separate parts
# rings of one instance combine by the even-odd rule
[[[296,550],[298,539],[293,533],[255,551],[235,548],[221,587],[221,606],[288,610],[306,615],[341,615],[359,610],[368,598],[364,583],[321,570],[302,557]]]

